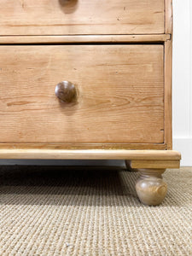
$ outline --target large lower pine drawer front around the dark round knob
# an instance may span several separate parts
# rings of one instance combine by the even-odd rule
[[[163,143],[163,45],[0,46],[0,143]],[[77,102],[55,96],[67,80]]]

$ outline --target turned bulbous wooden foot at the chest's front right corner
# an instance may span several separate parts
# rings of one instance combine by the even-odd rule
[[[143,204],[158,206],[164,200],[167,185],[162,179],[166,169],[137,169],[139,177],[136,182],[137,195]]]

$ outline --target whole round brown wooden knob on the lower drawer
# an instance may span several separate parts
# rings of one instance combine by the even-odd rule
[[[62,81],[56,84],[55,96],[57,96],[61,102],[71,103],[77,99],[77,90],[75,85],[68,81]]]

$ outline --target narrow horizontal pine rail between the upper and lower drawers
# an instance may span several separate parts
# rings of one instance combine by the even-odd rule
[[[0,36],[0,44],[76,44],[76,43],[160,43],[170,34],[152,35],[76,35],[76,36]]]

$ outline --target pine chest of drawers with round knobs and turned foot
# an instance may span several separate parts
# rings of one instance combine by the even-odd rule
[[[2,0],[0,158],[123,159],[158,205],[172,150],[171,0]]]

